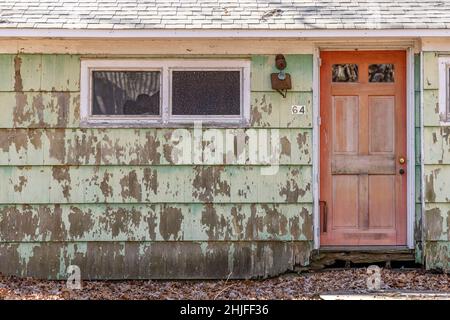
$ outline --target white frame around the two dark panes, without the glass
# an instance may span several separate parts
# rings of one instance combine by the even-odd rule
[[[160,115],[93,115],[93,71],[159,71]],[[173,71],[240,71],[240,115],[172,115]],[[250,123],[250,60],[244,59],[83,59],[80,79],[82,127],[170,127],[201,122],[212,126],[244,127]]]

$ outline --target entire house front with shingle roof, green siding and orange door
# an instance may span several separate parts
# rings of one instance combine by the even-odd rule
[[[0,4],[0,273],[450,270],[450,4]]]

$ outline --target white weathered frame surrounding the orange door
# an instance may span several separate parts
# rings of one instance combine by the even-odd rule
[[[406,153],[407,153],[407,189],[406,189],[406,246],[414,249],[415,224],[415,92],[414,92],[414,46],[394,48],[377,47],[347,47],[347,46],[320,46],[314,47],[313,54],[313,222],[314,222],[314,249],[320,249],[320,52],[340,50],[385,51],[404,50],[406,52]]]

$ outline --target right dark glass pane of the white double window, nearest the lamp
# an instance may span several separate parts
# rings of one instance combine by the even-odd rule
[[[172,114],[239,115],[239,71],[173,71]]]

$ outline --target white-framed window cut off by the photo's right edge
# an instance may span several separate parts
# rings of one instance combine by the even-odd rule
[[[439,117],[441,125],[450,125],[450,57],[439,58]]]

